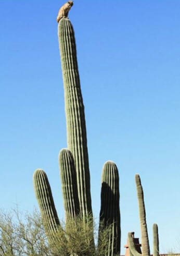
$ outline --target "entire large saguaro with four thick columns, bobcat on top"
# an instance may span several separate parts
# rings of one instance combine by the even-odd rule
[[[65,7],[64,5],[63,7]],[[94,246],[94,230],[92,220],[92,202],[90,192],[90,174],[87,151],[86,124],[84,104],[81,93],[81,84],[76,57],[76,45],[74,30],[67,17],[62,17],[58,23],[58,37],[62,64],[63,84],[65,90],[65,110],[67,121],[67,144],[68,149],[62,149],[59,154],[60,176],[62,182],[63,201],[65,206],[67,224],[74,223],[78,227],[76,220],[82,218],[84,245],[78,256],[83,254],[83,250],[91,248],[91,255],[96,253]],[[34,188],[41,213],[48,224],[47,235],[53,240],[56,230],[60,226],[55,209],[52,192],[47,176],[43,170],[36,170],[34,174]],[[120,253],[120,209],[119,209],[119,174],[118,168],[108,161],[102,174],[101,189],[101,210],[100,221],[104,227],[109,228],[107,239],[106,255],[114,256]],[[79,216],[78,216],[79,215]],[[78,216],[76,218],[76,216]],[[70,222],[70,220],[75,222]],[[90,220],[90,221],[89,221]],[[45,223],[45,225],[46,225]],[[91,224],[90,224],[91,223]],[[76,225],[77,224],[77,225]],[[66,230],[68,225],[66,225]],[[77,228],[78,229],[78,228]],[[52,237],[52,230],[54,231]],[[86,231],[88,230],[88,235]],[[72,231],[72,228],[71,228]],[[66,232],[65,232],[66,233]],[[100,233],[99,233],[100,234]],[[88,237],[87,237],[88,236]],[[62,237],[64,238],[64,236]],[[72,236],[71,236],[72,238]],[[72,240],[65,235],[65,243]],[[70,255],[77,255],[77,250],[72,246]],[[66,254],[67,255],[67,254]],[[97,255],[97,254],[96,254]],[[105,255],[104,251],[100,255]]]

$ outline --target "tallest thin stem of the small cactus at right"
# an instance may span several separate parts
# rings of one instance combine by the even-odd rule
[[[143,193],[143,187],[140,181],[140,176],[138,174],[136,174],[135,180],[136,180],[137,198],[138,198],[138,204],[139,204],[140,229],[142,231],[142,255],[150,256],[144,193]]]

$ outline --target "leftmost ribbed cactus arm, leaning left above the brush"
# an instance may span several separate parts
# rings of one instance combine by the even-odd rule
[[[60,227],[60,222],[55,208],[49,181],[44,170],[37,169],[35,171],[33,182],[46,232],[47,234],[50,234],[50,236],[53,236],[53,234],[55,234]]]

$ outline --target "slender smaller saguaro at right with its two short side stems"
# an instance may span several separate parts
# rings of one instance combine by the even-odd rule
[[[138,252],[135,247],[134,240],[133,240],[134,232],[128,233],[128,243],[129,243],[131,254],[133,254],[134,256],[150,256],[144,192],[143,192],[140,176],[138,174],[136,174],[135,180],[136,180],[137,198],[138,198],[138,204],[139,204],[140,228],[142,232],[142,253]],[[156,251],[156,254],[154,256],[158,256],[157,252],[159,251],[159,239],[158,239],[157,224],[153,225],[153,241],[154,241],[154,253]]]

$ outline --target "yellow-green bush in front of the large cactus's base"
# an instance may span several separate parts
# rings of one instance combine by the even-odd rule
[[[52,253],[54,256],[104,256],[112,225],[98,229],[92,215],[88,215],[86,223],[82,216],[71,218],[66,224],[61,222],[53,242],[49,241]],[[98,241],[95,247],[92,246],[94,238]]]

